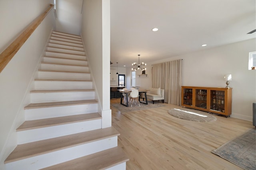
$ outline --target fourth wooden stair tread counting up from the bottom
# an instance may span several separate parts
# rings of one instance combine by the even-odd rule
[[[74,101],[64,101],[64,102],[44,102],[44,103],[31,103],[24,107],[24,109],[36,109],[44,107],[59,107],[59,106],[73,106],[82,104],[96,104],[97,100],[74,100]]]

